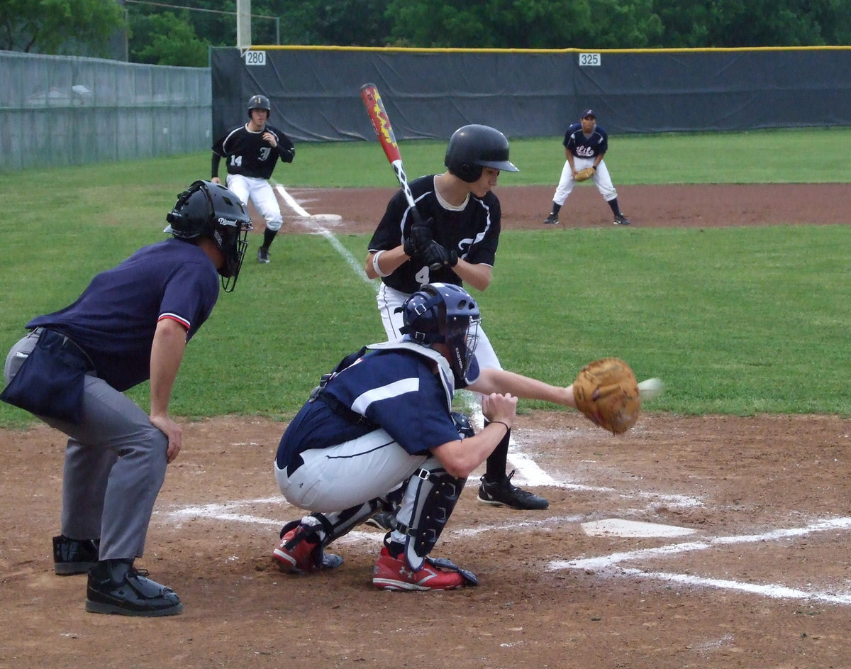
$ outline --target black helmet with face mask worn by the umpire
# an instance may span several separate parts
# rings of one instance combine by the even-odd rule
[[[219,268],[221,285],[230,293],[237,285],[248,248],[246,237],[252,229],[248,210],[237,195],[221,184],[195,181],[180,193],[165,220],[168,226],[164,232],[177,239],[192,241],[208,237],[214,241],[225,256],[225,264]]]

